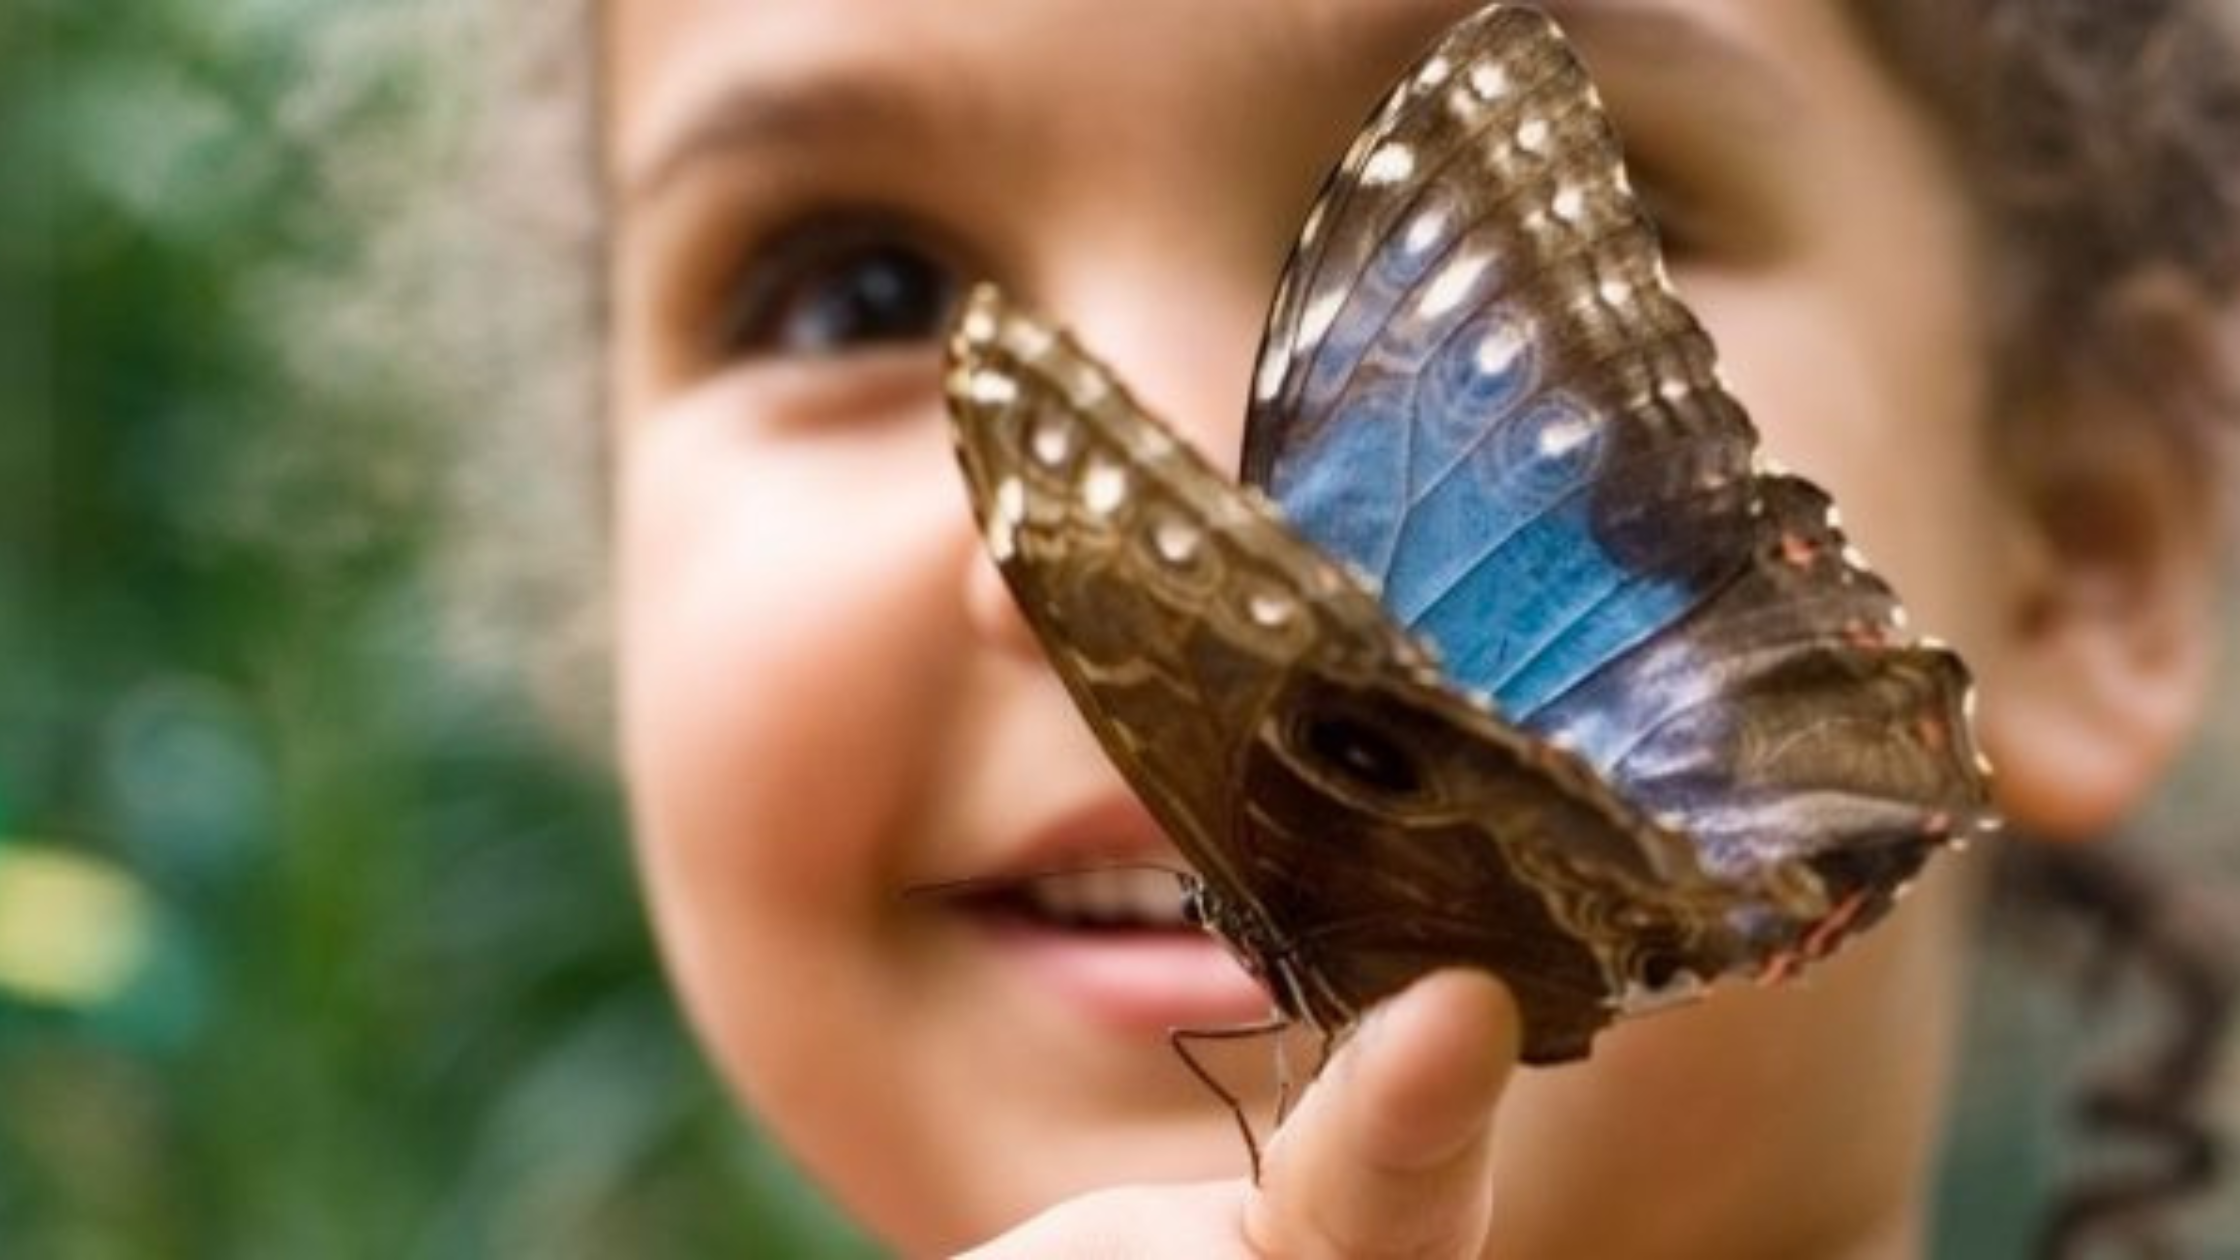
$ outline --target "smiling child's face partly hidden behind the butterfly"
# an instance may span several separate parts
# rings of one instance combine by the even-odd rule
[[[612,2],[623,715],[656,921],[721,1069],[912,1249],[1239,1173],[1163,1029],[1266,1011],[1183,933],[903,897],[1172,861],[979,552],[936,381],[948,300],[999,278],[1234,460],[1324,166],[1463,9]],[[2009,513],[1982,489],[1980,276],[1933,135],[1832,2],[1552,9],[1770,448],[1996,679]],[[1521,1078],[1505,1240],[1904,1238],[1951,973],[1953,899],[1924,892],[1812,984]]]

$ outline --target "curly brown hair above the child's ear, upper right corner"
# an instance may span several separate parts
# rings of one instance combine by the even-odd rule
[[[1850,0],[1850,13],[1942,123],[1978,206],[1987,439],[2016,489],[2081,556],[2135,547],[2168,518],[2126,498],[2141,484],[2186,487],[2195,502],[2175,518],[2200,520],[2240,415],[2229,0]],[[2110,462],[2155,478],[2081,475]]]

